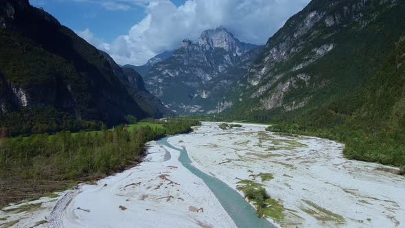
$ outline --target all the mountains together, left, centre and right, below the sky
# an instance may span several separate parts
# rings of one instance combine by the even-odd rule
[[[347,157],[398,165],[404,12],[398,0],[312,0],[266,45],[219,27],[146,65],[119,67],[28,1],[2,1],[0,121],[18,135],[119,124],[126,115],[220,114],[292,124],[283,130],[345,142]]]

